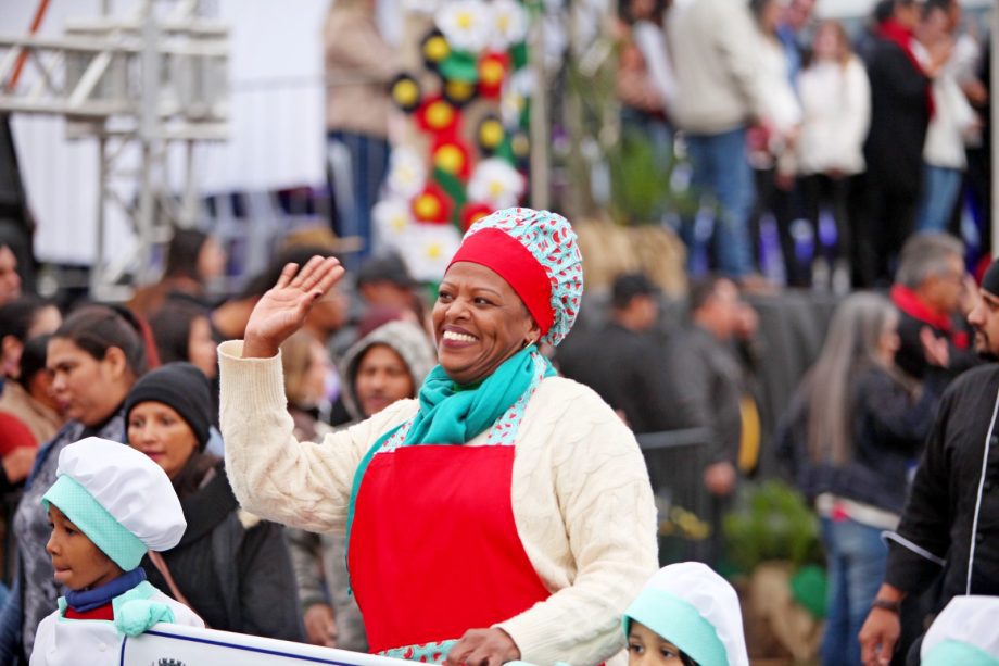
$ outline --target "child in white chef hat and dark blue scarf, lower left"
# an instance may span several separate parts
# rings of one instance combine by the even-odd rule
[[[42,495],[52,525],[46,550],[67,592],[38,627],[31,666],[117,664],[123,636],[160,621],[204,627],[139,566],[187,528],[166,473],[131,447],[89,437],[62,450],[56,474]]]

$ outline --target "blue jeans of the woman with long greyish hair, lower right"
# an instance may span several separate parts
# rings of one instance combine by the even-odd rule
[[[822,518],[829,568],[829,612],[822,638],[822,664],[860,664],[860,641],[871,602],[885,577],[888,546],[882,530],[849,518]]]

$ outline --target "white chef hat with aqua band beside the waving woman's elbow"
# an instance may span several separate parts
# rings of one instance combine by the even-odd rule
[[[735,590],[699,562],[659,569],[624,612],[673,643],[700,666],[749,666]]]

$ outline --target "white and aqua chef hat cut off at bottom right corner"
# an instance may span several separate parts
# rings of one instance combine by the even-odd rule
[[[937,615],[920,649],[923,666],[999,664],[999,598],[954,596]]]

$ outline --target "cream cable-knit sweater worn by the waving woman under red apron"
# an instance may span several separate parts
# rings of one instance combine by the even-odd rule
[[[226,468],[240,503],[286,525],[343,530],[361,458],[417,402],[397,402],[321,444],[299,442],[280,359],[241,359],[240,341],[218,352]],[[592,390],[552,377],[528,404],[516,447],[514,519],[552,596],[497,626],[526,662],[609,661],[624,645],[621,614],[658,566],[656,508],[634,436]]]

